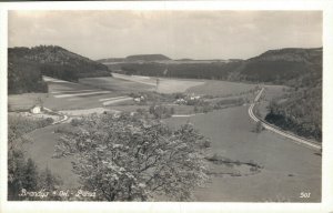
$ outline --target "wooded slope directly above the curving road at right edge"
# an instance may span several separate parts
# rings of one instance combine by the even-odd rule
[[[322,141],[322,85],[297,89],[274,100],[265,120],[301,136]]]

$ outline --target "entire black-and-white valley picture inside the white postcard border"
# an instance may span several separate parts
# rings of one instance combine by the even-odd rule
[[[322,203],[323,17],[8,10],[7,202]]]

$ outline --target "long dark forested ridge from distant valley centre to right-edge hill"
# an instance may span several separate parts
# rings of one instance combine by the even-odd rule
[[[137,58],[140,59],[140,58]],[[168,58],[169,59],[169,58]],[[289,48],[269,50],[248,60],[200,62],[172,62],[150,60],[127,61],[109,64],[125,74],[174,77],[192,79],[216,79],[246,82],[294,84],[312,82],[322,75],[322,48]],[[167,70],[167,71],[165,71]]]

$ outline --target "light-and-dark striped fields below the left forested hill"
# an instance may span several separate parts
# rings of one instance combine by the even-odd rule
[[[103,108],[110,104],[110,101],[128,100],[128,97],[119,91],[101,90],[97,87],[52,78],[46,78],[46,81],[49,85],[49,93],[9,95],[10,108],[29,110],[38,103],[38,98],[41,98],[43,106],[56,111]]]

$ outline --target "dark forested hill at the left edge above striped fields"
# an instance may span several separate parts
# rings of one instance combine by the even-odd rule
[[[67,81],[111,75],[107,65],[57,45],[9,48],[8,65],[9,93],[46,91],[42,74]]]

